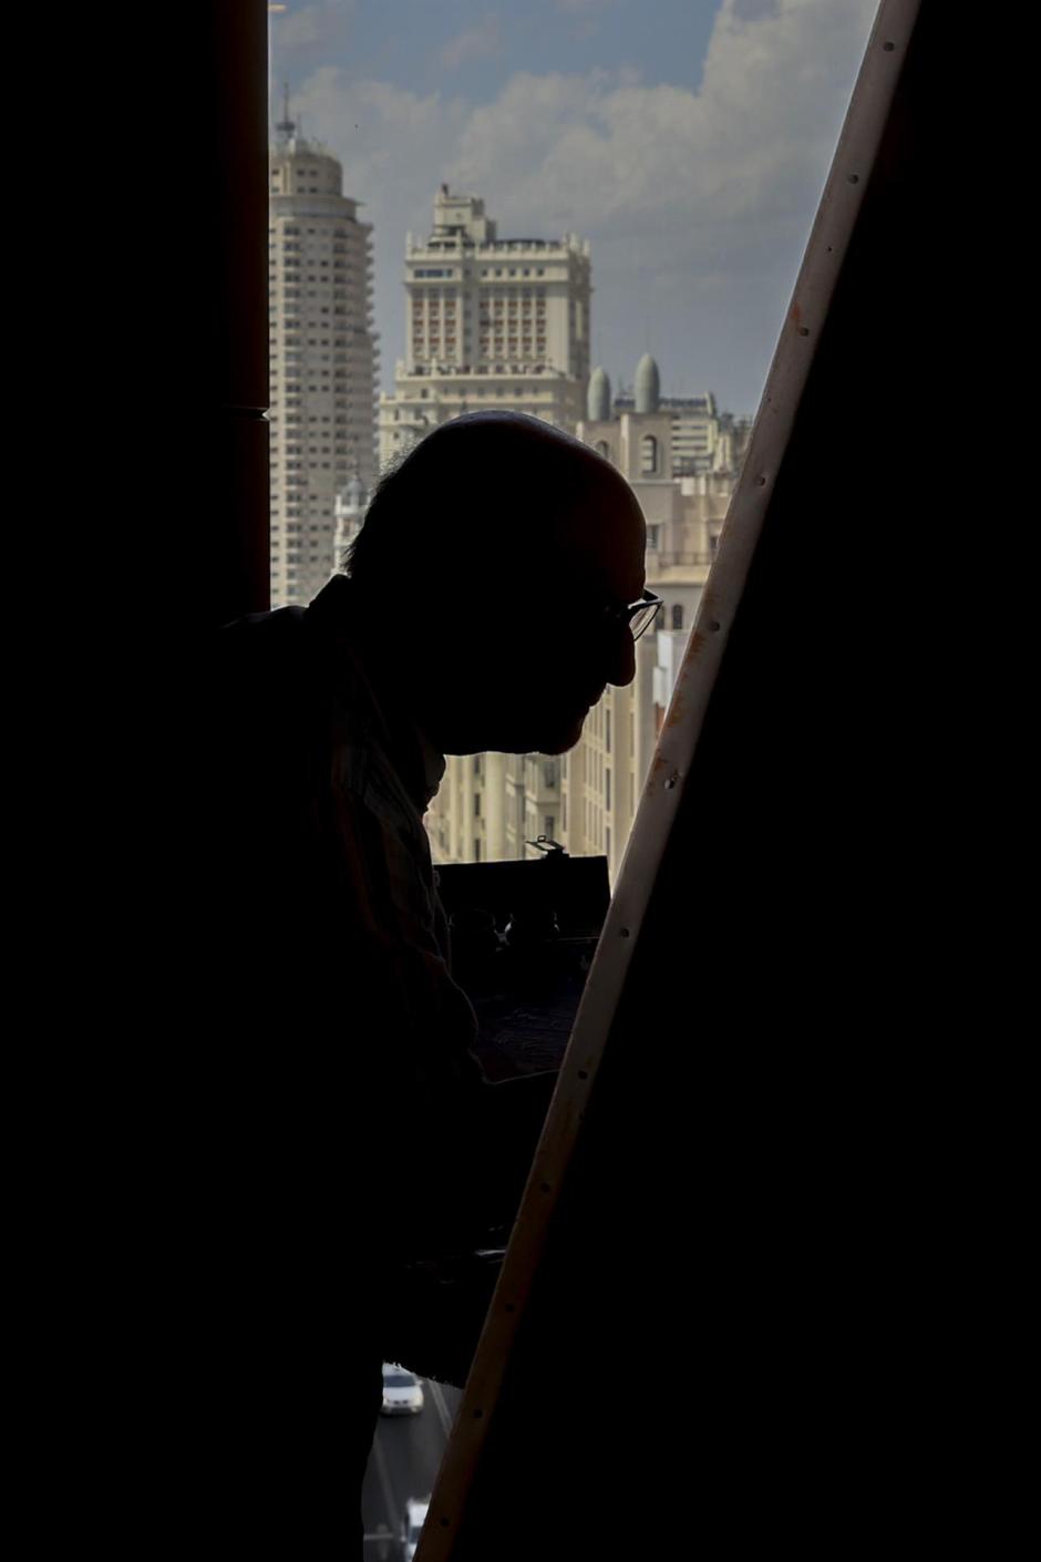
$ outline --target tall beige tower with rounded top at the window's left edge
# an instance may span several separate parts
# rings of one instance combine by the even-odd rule
[[[376,480],[371,225],[357,205],[337,159],[286,111],[268,222],[275,608],[322,589],[337,562],[337,495]]]

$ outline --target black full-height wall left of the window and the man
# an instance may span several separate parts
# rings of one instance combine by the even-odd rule
[[[267,601],[267,8],[23,22],[5,469],[9,531],[37,547],[5,578],[33,704],[11,748],[31,792],[12,833],[30,859],[17,1418],[41,1537],[165,1554],[214,1532],[198,1378],[179,1371],[212,1296],[186,1259],[195,1217],[172,1212],[214,1045],[198,884],[178,872],[184,779],[204,772],[179,695],[197,631]]]

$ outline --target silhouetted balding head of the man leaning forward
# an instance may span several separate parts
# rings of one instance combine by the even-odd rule
[[[559,753],[632,636],[604,611],[643,589],[645,526],[620,473],[520,412],[435,428],[379,484],[348,569],[395,612],[425,729],[445,753]]]

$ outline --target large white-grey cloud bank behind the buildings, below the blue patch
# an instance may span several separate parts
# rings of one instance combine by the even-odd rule
[[[403,342],[404,231],[426,230],[446,178],[506,236],[592,241],[610,369],[629,372],[649,337],[666,384],[685,375],[751,409],[872,14],[874,0],[724,0],[696,91],[518,73],[474,106],[315,72],[297,103],[375,222],[384,369]]]

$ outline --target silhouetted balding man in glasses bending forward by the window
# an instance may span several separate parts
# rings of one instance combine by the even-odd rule
[[[423,826],[443,756],[577,742],[634,676],[643,550],[598,455],[473,414],[382,480],[350,575],[222,631],[208,893],[240,1067],[219,1092],[219,1267],[233,1293],[253,1278],[275,1379],[261,1420],[293,1450],[273,1479],[304,1506],[342,1492],[345,1420],[361,1479],[395,1265],[510,1217],[548,1104],[545,1078],[490,1086],[471,1051]]]

